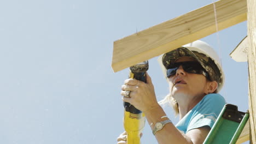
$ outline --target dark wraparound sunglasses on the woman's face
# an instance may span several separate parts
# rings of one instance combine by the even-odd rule
[[[210,80],[208,73],[206,73],[206,70],[203,69],[203,67],[201,66],[201,64],[199,62],[196,62],[196,61],[174,63],[169,69],[167,69],[167,77],[169,78],[169,77],[175,75],[177,69],[181,65],[183,67],[183,70],[186,71],[187,73],[202,74],[207,79]]]

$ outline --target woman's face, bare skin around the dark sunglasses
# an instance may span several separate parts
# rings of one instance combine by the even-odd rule
[[[195,61],[191,57],[181,57],[176,62]],[[207,93],[207,79],[202,74],[191,74],[183,70],[182,65],[176,74],[169,77],[170,92],[174,99],[202,97]],[[184,96],[185,97],[182,97]]]

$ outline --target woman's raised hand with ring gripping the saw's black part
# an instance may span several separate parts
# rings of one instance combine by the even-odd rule
[[[123,101],[135,106],[136,109],[146,112],[153,109],[155,106],[159,106],[155,97],[154,86],[148,73],[146,74],[147,83],[136,79],[126,79],[124,85],[121,87],[121,95],[123,95]],[[131,91],[129,98],[126,96],[126,91]]]

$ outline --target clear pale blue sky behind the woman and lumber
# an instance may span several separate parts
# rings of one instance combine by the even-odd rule
[[[9,0],[0,3],[0,143],[116,143],[123,132],[120,87],[128,69],[113,73],[113,42],[212,1]],[[217,11],[218,13],[218,11]],[[248,109],[247,63],[229,53],[247,23],[202,40],[221,48],[226,101]],[[158,100],[168,86],[149,60]],[[174,123],[170,107],[165,107]],[[156,143],[148,124],[143,143]]]

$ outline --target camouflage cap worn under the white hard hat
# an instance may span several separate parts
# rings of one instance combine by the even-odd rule
[[[220,70],[214,61],[205,54],[197,51],[190,51],[186,47],[179,47],[176,50],[165,53],[162,56],[162,64],[164,64],[166,69],[169,69],[179,57],[192,57],[196,59],[209,74],[211,81],[222,83]]]

